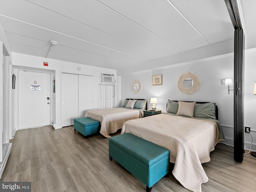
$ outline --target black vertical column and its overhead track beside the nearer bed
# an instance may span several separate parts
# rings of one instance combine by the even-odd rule
[[[234,26],[234,160],[244,159],[244,32],[236,0],[225,0]]]

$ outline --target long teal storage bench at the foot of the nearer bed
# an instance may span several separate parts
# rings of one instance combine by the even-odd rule
[[[146,185],[152,186],[163,176],[168,178],[170,151],[162,146],[124,133],[109,138],[109,158],[114,159]]]

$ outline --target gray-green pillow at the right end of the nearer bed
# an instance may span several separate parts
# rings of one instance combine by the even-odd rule
[[[216,119],[215,108],[216,103],[197,103],[194,109],[194,117]]]

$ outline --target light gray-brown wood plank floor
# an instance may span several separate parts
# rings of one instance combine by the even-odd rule
[[[1,182],[32,182],[32,192],[145,192],[146,186],[108,156],[108,138],[85,139],[73,126],[19,130]],[[233,160],[233,151],[217,144],[203,164],[209,178],[202,192],[256,192],[256,158]],[[152,192],[189,192],[172,175]]]

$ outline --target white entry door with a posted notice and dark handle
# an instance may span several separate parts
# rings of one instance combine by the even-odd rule
[[[18,129],[50,125],[50,74],[18,71]]]

